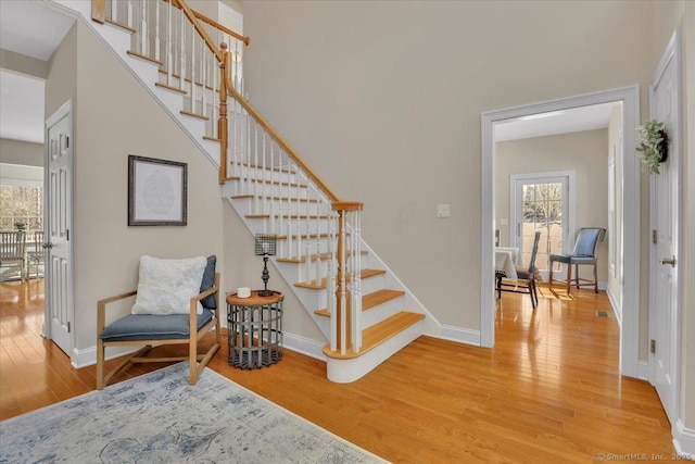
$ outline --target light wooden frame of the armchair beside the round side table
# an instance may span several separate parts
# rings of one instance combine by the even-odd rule
[[[130,298],[137,294],[137,291],[129,291],[127,293],[118,294],[115,297],[105,298],[97,302],[97,334],[101,334],[106,324],[106,305],[115,301],[121,301],[126,298]],[[213,318],[205,324],[200,330],[198,326],[198,302],[203,298],[215,294],[216,309],[210,310],[213,312]],[[167,316],[162,316],[167,317]],[[203,372],[203,368],[213,355],[219,350],[222,346],[222,334],[219,326],[219,273],[215,273],[215,284],[207,290],[191,298],[190,300],[190,318],[189,318],[189,338],[174,338],[174,339],[155,339],[155,340],[118,340],[118,341],[103,341],[101,338],[97,338],[97,389],[101,390],[108,385],[111,378],[125,369],[130,364],[136,363],[163,363],[173,361],[186,361],[189,362],[190,374],[189,384],[195,385],[198,377]],[[198,342],[210,330],[215,329],[215,343],[207,350],[207,352],[198,354]],[[184,344],[188,343],[188,356],[144,356],[153,348],[163,344]],[[130,353],[121,364],[113,368],[110,373],[104,373],[105,350],[106,347],[124,347],[124,346],[140,346],[141,349],[134,353]],[[198,362],[200,361],[200,364]]]

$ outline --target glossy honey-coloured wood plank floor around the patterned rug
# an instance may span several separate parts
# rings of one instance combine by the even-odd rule
[[[542,288],[532,311],[528,296],[503,293],[494,349],[420,337],[348,385],[289,350],[271,367],[240,371],[225,346],[210,367],[391,462],[670,461],[670,425],[654,388],[618,375],[606,296],[577,294],[557,299]],[[0,283],[2,419],[94,388],[93,366],[73,368],[39,337],[42,308],[41,280]]]

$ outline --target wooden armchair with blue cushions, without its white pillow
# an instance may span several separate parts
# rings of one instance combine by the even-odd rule
[[[202,258],[202,256],[201,256]],[[200,293],[190,299],[189,308],[180,314],[128,314],[105,325],[106,305],[135,297],[130,291],[99,300],[97,303],[97,388],[101,390],[109,380],[134,363],[188,361],[189,384],[194,385],[212,356],[220,347],[219,333],[219,273],[215,272],[216,258],[207,258]],[[142,268],[142,267],[141,267]],[[199,302],[202,311],[199,311]],[[199,340],[215,330],[215,342],[204,353],[198,353]],[[163,344],[188,344],[186,356],[146,356],[153,348]],[[110,373],[104,372],[106,347],[142,347],[128,355]]]

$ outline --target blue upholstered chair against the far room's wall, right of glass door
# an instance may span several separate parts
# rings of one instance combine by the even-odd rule
[[[598,246],[606,236],[606,229],[601,227],[583,227],[577,234],[574,241],[574,250],[571,254],[551,254],[549,258],[549,288],[553,289],[553,283],[561,283],[567,286],[567,294],[570,294],[572,283],[572,266],[574,266],[574,286],[580,287],[592,286],[594,292],[598,293],[598,277],[596,273],[596,262],[598,255]],[[555,263],[567,264],[567,279],[557,279],[553,277],[553,265]],[[579,277],[579,266],[589,265],[594,268],[594,278],[585,279]]]

